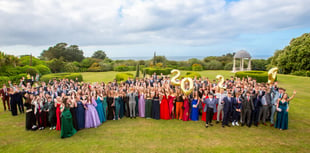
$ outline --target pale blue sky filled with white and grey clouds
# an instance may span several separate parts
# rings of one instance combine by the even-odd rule
[[[310,32],[309,0],[0,0],[0,50],[32,53],[59,42],[85,56],[272,56]]]

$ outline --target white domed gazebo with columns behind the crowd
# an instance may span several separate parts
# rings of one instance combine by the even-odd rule
[[[236,69],[236,58],[240,59],[240,69]],[[243,68],[244,67],[243,63],[244,63],[245,58],[249,59],[248,68],[246,68],[246,69]],[[249,52],[247,52],[245,50],[240,50],[235,54],[233,72],[237,72],[237,71],[251,71],[251,55]]]

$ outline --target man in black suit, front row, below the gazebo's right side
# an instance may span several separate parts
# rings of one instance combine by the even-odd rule
[[[250,92],[247,92],[244,100],[242,101],[242,126],[247,123],[247,126],[251,127],[251,113],[253,110],[253,97],[251,96]],[[245,119],[247,119],[246,122]]]

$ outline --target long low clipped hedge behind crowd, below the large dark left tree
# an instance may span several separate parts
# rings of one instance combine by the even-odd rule
[[[53,74],[46,74],[43,75],[40,78],[40,81],[48,82],[49,80],[53,80],[54,78],[56,79],[72,79],[75,80],[75,78],[78,78],[79,81],[83,81],[83,76],[80,73],[53,73]]]

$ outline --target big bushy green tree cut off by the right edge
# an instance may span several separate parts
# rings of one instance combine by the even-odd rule
[[[310,33],[293,38],[282,50],[277,50],[271,59],[271,65],[277,66],[280,73],[310,70]],[[269,66],[270,67],[270,66]]]

